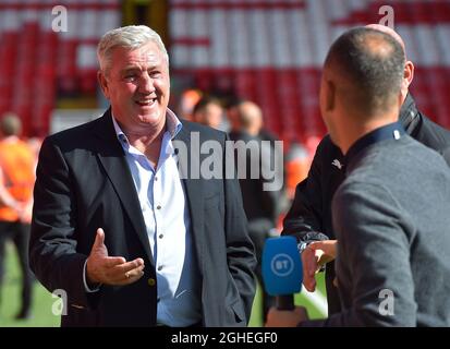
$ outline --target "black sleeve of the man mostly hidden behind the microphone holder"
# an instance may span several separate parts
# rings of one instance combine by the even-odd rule
[[[282,236],[294,236],[299,242],[328,240],[323,231],[321,163],[324,141],[317,147],[308,177],[296,185],[291,208],[283,220]]]

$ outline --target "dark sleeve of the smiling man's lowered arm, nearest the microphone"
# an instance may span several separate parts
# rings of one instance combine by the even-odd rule
[[[229,161],[234,161],[234,155],[231,152],[226,152],[224,161],[223,169],[227,164],[231,164]],[[256,266],[255,250],[247,231],[247,219],[238,179],[224,177],[223,182],[228,267],[240,292],[248,323],[256,292],[256,278],[253,273]]]

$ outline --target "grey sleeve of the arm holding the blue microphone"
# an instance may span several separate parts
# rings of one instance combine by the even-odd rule
[[[339,238],[338,284],[348,306],[319,324],[415,326],[411,219],[387,190],[373,184],[352,183],[341,188],[332,208]],[[391,313],[388,297],[391,297]]]

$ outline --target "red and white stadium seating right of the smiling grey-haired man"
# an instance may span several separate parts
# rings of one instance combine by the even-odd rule
[[[332,40],[394,11],[396,29],[416,64],[412,92],[421,109],[450,127],[450,2],[373,0],[171,0],[172,74],[202,89],[227,81],[258,103],[284,141],[323,135],[320,67]]]

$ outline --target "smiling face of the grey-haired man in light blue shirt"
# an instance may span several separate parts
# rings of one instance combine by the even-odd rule
[[[112,113],[125,130],[158,127],[166,121],[170,96],[168,63],[156,44],[135,50],[119,47],[111,56],[107,76],[100,74]]]

